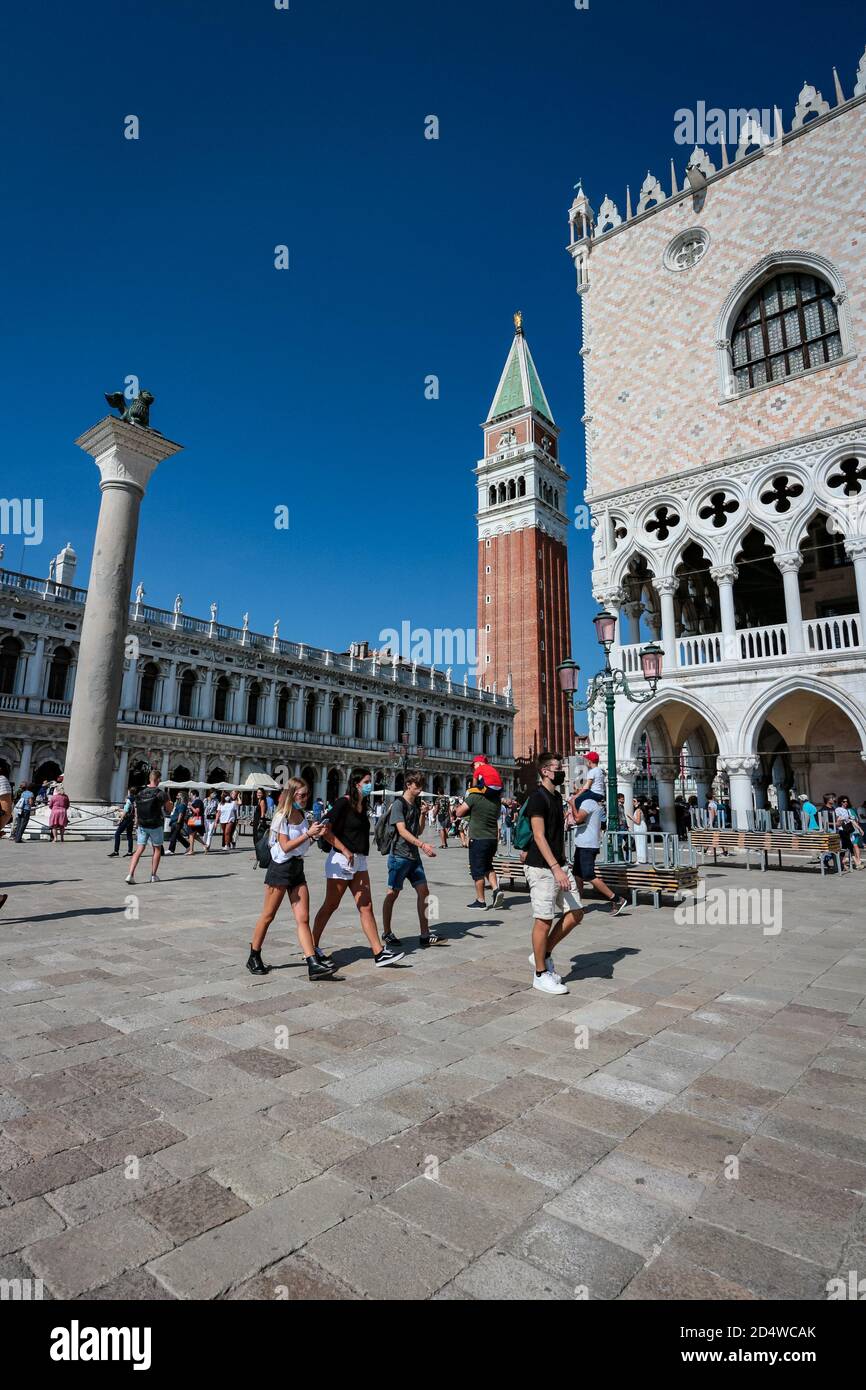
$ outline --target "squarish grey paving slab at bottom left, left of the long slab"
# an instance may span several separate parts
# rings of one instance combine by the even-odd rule
[[[57,1218],[60,1219],[60,1218]],[[171,1241],[125,1207],[39,1240],[26,1259],[57,1298],[76,1298],[154,1259]]]

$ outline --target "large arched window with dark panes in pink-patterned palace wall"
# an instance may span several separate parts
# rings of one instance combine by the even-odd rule
[[[731,334],[738,391],[796,377],[842,356],[833,286],[820,275],[788,271],[752,295]]]

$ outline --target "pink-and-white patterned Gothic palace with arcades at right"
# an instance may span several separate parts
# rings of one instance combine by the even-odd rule
[[[638,691],[664,648],[617,776],[669,827],[684,770],[741,826],[866,794],[866,53],[769,124],[569,214],[592,589]]]

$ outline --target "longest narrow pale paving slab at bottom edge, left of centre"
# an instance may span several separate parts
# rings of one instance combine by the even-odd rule
[[[367,1198],[331,1175],[188,1240],[150,1272],[179,1298],[215,1298],[343,1222]]]

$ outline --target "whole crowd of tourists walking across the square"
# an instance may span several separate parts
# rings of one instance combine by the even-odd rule
[[[416,894],[418,947],[425,949],[442,944],[428,920],[430,890],[423,860],[435,858],[436,849],[424,841],[425,828],[432,830],[438,849],[452,848],[455,840],[467,849],[474,885],[468,910],[487,910],[488,892],[493,909],[505,906],[496,856],[502,852],[507,856],[517,853],[524,863],[532,908],[532,986],[544,992],[562,994],[567,992],[567,987],[555,970],[553,949],[582,917],[584,885],[591,884],[614,916],[623,910],[626,899],[612,892],[595,867],[609,819],[605,774],[598,755],[588,756],[588,776],[570,792],[564,787],[566,771],[559,755],[542,753],[537,776],[538,785],[523,805],[503,795],[498,770],[485,756],[478,756],[461,798],[431,796],[424,791],[425,774],[406,771],[402,790],[385,806],[384,796],[374,795],[370,769],[356,769],[346,794],[334,803],[322,802],[320,796],[313,799],[307,783],[292,778],[279,792],[257,790],[250,808],[239,791],[207,790],[199,794],[181,790],[172,798],[160,785],[154,770],[145,788],[128,790],[110,858],[120,858],[125,840],[124,858],[129,859],[125,881],[135,885],[139,865],[150,852],[150,883],[158,883],[163,853],[175,855],[178,847],[186,856],[195,855],[199,847],[203,853],[214,848],[231,852],[238,847],[242,823],[250,821],[256,863],[265,870],[265,876],[264,902],[252,931],[246,966],[253,974],[268,973],[270,966],[263,962],[261,951],[268,927],[288,895],[309,979],[316,981],[331,979],[338,969],[321,942],[346,894],[354,903],[377,967],[396,965],[405,956],[392,920],[406,884]],[[696,806],[695,799],[691,801]],[[831,794],[823,796],[820,808],[808,796],[799,801],[805,830],[830,827],[838,831],[842,870],[863,869],[866,808],[853,808],[848,796]],[[694,806],[685,798],[678,798],[678,802],[683,803],[688,834]],[[11,838],[21,842],[38,805],[50,809],[50,838],[63,841],[70,808],[63,778],[38,790],[22,784],[14,796],[8,780],[0,777],[0,835],[11,823]],[[638,795],[627,809],[620,794],[617,806],[616,828],[627,844],[627,856],[646,863],[649,837],[660,830],[657,802]],[[728,816],[730,808],[710,796],[708,823],[724,826]],[[370,885],[371,841],[386,856],[388,869],[381,931]],[[324,898],[311,919],[304,860],[314,845],[325,852]],[[0,906],[4,902],[6,895],[0,894]]]

